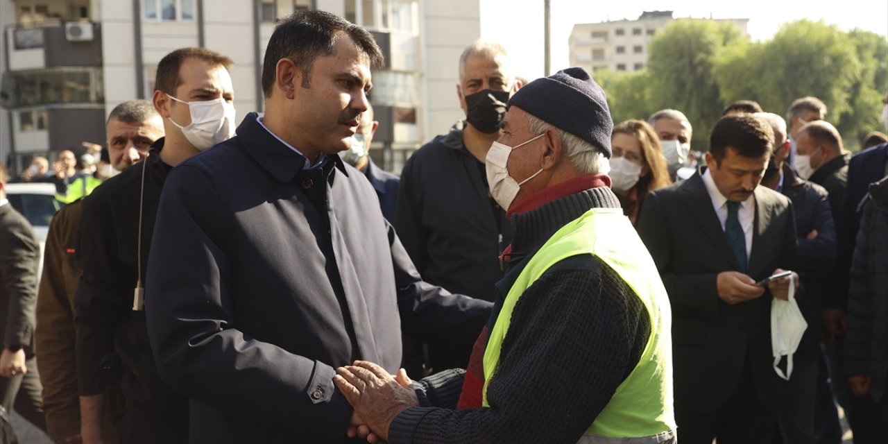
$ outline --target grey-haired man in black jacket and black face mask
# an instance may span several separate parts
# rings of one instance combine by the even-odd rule
[[[505,102],[520,87],[502,45],[469,45],[456,85],[465,121],[419,148],[401,171],[394,226],[419,274],[432,284],[486,300],[496,295],[494,285],[503,277],[499,255],[510,240],[505,211],[488,191],[484,158],[500,136]],[[468,361],[468,350],[429,345],[432,371]]]

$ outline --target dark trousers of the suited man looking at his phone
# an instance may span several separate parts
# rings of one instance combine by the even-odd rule
[[[714,438],[718,444],[771,442],[777,427],[776,413],[765,408],[756,396],[749,363],[725,406],[712,412],[694,412],[677,405],[675,420],[681,444],[712,444]]]

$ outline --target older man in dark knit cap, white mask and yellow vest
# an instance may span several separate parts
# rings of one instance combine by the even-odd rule
[[[415,391],[370,362],[337,369],[364,424],[353,432],[391,443],[675,442],[669,299],[609,187],[604,91],[574,67],[509,106],[486,167],[511,219],[511,269],[469,368]]]

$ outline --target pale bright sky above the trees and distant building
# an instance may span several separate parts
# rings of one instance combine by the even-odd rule
[[[505,45],[515,74],[543,76],[543,0],[479,0],[481,38]],[[749,19],[753,40],[768,40],[783,23],[823,20],[848,31],[860,28],[888,38],[888,0],[551,0],[551,70],[568,67],[567,40],[575,23],[637,20],[644,11],[673,17]],[[888,55],[886,55],[888,57]]]

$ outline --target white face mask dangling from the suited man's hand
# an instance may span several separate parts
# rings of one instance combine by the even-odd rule
[[[796,281],[789,279],[789,299],[771,300],[771,351],[774,358],[774,371],[777,376],[789,381],[792,376],[792,355],[796,353],[798,344],[802,342],[808,322],[798,309],[796,302]],[[786,374],[777,364],[781,356],[786,356]]]

